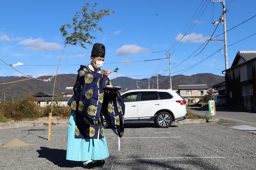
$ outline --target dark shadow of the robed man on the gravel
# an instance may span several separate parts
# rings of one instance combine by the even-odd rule
[[[81,167],[81,161],[66,160],[66,150],[40,147],[38,158],[46,158],[59,167]]]

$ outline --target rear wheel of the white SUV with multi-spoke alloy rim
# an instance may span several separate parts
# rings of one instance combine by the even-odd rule
[[[168,128],[172,124],[172,116],[168,112],[160,112],[156,116],[156,124],[160,128]]]

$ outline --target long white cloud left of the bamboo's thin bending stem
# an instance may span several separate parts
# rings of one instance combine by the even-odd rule
[[[23,41],[19,42],[20,45],[28,46],[29,48],[33,50],[45,50],[45,51],[52,51],[61,49],[61,45],[56,42],[44,42],[43,39],[37,38],[37,39],[25,39]]]

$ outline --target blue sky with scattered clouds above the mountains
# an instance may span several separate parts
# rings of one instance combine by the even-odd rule
[[[64,47],[59,28],[63,24],[72,24],[74,14],[82,9],[84,2],[82,0],[2,1],[0,59],[7,64],[23,63],[14,68],[25,75],[38,77],[55,72]],[[223,42],[210,41],[204,48],[206,40],[212,36],[215,29],[213,37],[221,34],[215,39],[224,39],[223,24],[220,23],[217,27],[211,23],[215,20],[219,21],[222,14],[220,2],[211,3],[209,0],[86,2],[91,4],[91,7],[97,2],[97,10],[115,11],[99,22],[98,26],[102,27],[102,32],[91,33],[97,38],[93,43],[102,43],[106,47],[102,69],[119,68],[117,73],[110,74],[111,79],[120,76],[134,79],[149,78],[156,75],[156,71],[158,74],[169,76],[167,58],[169,49],[172,76],[178,74],[190,76],[197,73],[224,76],[221,73],[225,70],[224,51],[219,51],[224,48]],[[239,50],[256,50],[256,35],[253,35],[256,33],[256,17],[252,18],[256,15],[256,1],[225,0],[225,4],[228,9],[226,22],[229,30],[227,44],[228,68],[230,68]],[[185,33],[185,39],[179,41]],[[91,49],[90,45],[87,45],[87,50],[78,45],[67,45],[60,61],[58,74],[77,74],[81,64],[90,63]],[[0,76],[24,76],[4,62],[0,61]]]

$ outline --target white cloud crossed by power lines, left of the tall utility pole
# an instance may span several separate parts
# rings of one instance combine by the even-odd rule
[[[179,33],[178,36],[175,37],[175,40],[179,40],[183,37],[184,35]],[[188,35],[185,35],[183,39],[181,40],[182,42],[196,42],[196,43],[204,43],[206,40],[209,40],[210,37],[203,36],[203,34],[199,33],[191,33]]]

